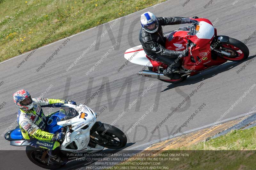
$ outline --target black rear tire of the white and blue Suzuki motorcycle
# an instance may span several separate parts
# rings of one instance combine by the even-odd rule
[[[36,154],[40,154],[40,152],[46,152],[46,150],[43,150],[43,149],[39,149],[39,148],[34,148],[32,146],[26,146],[26,154],[28,156],[28,159],[33,162],[34,164],[36,164],[37,166],[40,166],[42,168],[45,168],[45,169],[58,169],[60,168],[61,166],[64,166],[64,165],[47,165],[47,163],[43,163],[43,162],[40,162],[38,159],[36,159],[35,155]],[[48,154],[47,154],[48,156]]]

